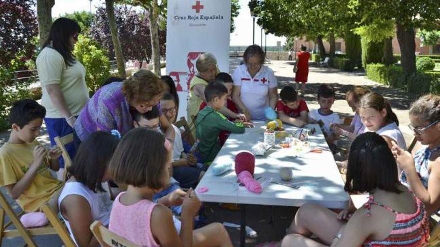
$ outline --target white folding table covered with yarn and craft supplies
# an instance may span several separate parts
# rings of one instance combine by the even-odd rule
[[[295,206],[305,203],[317,203],[327,208],[342,209],[348,206],[349,195],[344,191],[344,183],[329,151],[327,142],[317,124],[307,125],[316,132],[309,135],[310,148],[320,148],[322,153],[309,152],[301,157],[294,157],[291,149],[278,145],[266,152],[265,156],[256,156],[254,178],[273,178],[280,180],[279,169],[289,167],[293,171],[293,181],[300,186],[297,189],[270,183],[262,193],[247,191],[237,183],[234,170],[222,176],[214,176],[211,168],[217,164],[234,165],[235,155],[241,151],[251,151],[251,147],[263,142],[265,122],[254,122],[255,128],[246,129],[244,134],[231,134],[221,148],[215,160],[196,188],[197,196],[203,202],[235,203],[241,208],[241,246],[245,244],[245,209],[247,204]],[[284,126],[286,131],[294,132],[297,128]],[[279,140],[276,140],[279,143]],[[304,182],[304,183],[300,183]],[[199,193],[198,189],[207,187],[208,191]]]

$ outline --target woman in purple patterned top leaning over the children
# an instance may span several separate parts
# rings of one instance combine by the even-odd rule
[[[122,82],[113,82],[100,88],[82,109],[75,123],[75,132],[84,140],[91,133],[118,130],[122,135],[134,128],[130,109],[140,113],[159,107],[165,93],[165,84],[153,72],[141,69]],[[174,129],[160,114],[160,126],[165,136],[174,140]]]

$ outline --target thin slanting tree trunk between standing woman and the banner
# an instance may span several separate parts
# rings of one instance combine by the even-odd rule
[[[105,7],[107,9],[108,25],[110,26],[111,39],[113,40],[114,54],[116,55],[117,71],[121,78],[126,78],[125,62],[122,53],[122,46],[120,45],[119,36],[117,34],[116,17],[114,15],[114,0],[105,0]]]

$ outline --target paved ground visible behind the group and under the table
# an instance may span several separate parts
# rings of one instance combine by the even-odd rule
[[[231,59],[231,70],[239,64],[239,60]],[[294,86],[294,74],[292,72],[292,61],[271,61],[268,66],[273,69],[278,78],[279,89],[284,85]],[[164,73],[164,72],[163,72]],[[305,94],[305,100],[310,109],[319,107],[317,104],[316,93],[321,83],[329,83],[336,89],[336,101],[333,110],[352,115],[351,108],[345,101],[345,92],[354,85],[370,87],[372,90],[382,94],[392,105],[394,112],[400,121],[400,128],[404,133],[406,143],[409,145],[412,140],[412,134],[407,127],[409,123],[408,109],[410,102],[414,97],[401,90],[389,88],[387,86],[375,83],[363,75],[363,72],[347,73],[331,68],[311,67],[309,73],[309,83]],[[0,147],[7,141],[9,132],[0,133]],[[42,129],[42,135],[38,138],[40,142],[48,143],[48,136],[45,128]],[[246,246],[254,246],[256,243],[264,241],[279,240],[285,233],[295,213],[292,207],[271,207],[271,206],[249,206],[247,208],[247,224],[257,231],[257,238],[247,238]],[[239,224],[239,211],[230,211],[218,206],[218,204],[205,204],[205,214],[208,222],[233,222]],[[252,217],[253,216],[253,217]],[[235,246],[239,246],[239,230],[227,228]],[[57,236],[38,237],[37,244],[44,247],[61,246]],[[3,246],[15,247],[22,246],[22,241],[18,238],[13,240],[4,240]]]

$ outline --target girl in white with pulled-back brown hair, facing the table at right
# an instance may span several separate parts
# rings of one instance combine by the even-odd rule
[[[406,142],[398,127],[398,119],[391,109],[391,105],[378,93],[368,93],[362,97],[359,106],[359,115],[364,132],[376,132],[381,135],[392,147],[394,141],[406,150]]]

